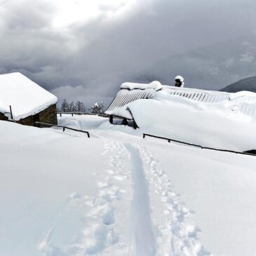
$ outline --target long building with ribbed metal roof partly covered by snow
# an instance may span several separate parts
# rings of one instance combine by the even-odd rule
[[[176,96],[176,97],[174,97]],[[256,94],[250,92],[225,93],[216,90],[199,90],[195,88],[179,88],[175,86],[164,86],[159,81],[146,83],[123,83],[119,92],[114,97],[105,114],[109,115],[110,123],[114,118],[123,119],[126,124],[128,120],[132,120],[134,127],[137,127],[134,113],[131,108],[131,102],[136,100],[164,100],[175,101],[177,99],[191,100],[191,104],[201,107],[204,104],[213,103],[212,106],[220,102],[219,107],[225,109],[224,102],[229,102],[234,108],[242,114],[256,117],[255,100]],[[202,103],[202,104],[201,104]],[[223,104],[222,104],[223,103]],[[171,114],[171,113],[170,113]]]

